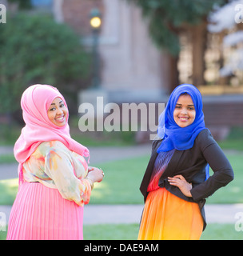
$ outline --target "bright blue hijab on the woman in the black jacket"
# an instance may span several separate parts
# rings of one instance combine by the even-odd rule
[[[196,110],[196,117],[192,124],[181,128],[173,119],[173,111],[181,94],[189,94],[193,100]],[[169,150],[189,150],[193,147],[194,140],[201,130],[207,129],[204,122],[204,114],[202,112],[201,93],[197,88],[190,84],[182,84],[177,86],[170,94],[169,101],[165,110],[159,117],[157,134],[163,139],[161,146],[157,149],[157,153]],[[207,174],[209,176],[209,166],[207,166]]]

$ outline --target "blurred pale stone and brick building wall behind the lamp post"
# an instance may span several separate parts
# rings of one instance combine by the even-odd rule
[[[102,89],[111,101],[159,100],[168,92],[166,58],[153,46],[141,10],[125,0],[54,0],[54,16],[92,43],[90,10],[102,13],[99,53],[102,60]],[[119,91],[119,94],[116,92]]]

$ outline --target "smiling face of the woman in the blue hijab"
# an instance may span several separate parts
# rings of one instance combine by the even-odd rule
[[[193,99],[189,94],[181,94],[173,111],[173,119],[178,126],[184,128],[191,125],[196,118]]]

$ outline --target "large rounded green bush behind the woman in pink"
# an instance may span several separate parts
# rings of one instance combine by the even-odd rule
[[[34,83],[77,94],[90,72],[78,35],[44,15],[9,17],[1,26],[0,53],[0,113],[17,110],[23,90]]]

